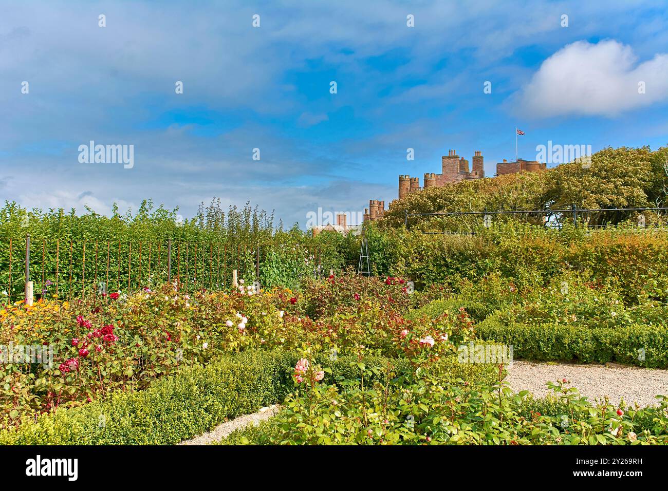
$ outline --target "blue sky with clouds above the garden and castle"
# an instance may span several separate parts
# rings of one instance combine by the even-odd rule
[[[217,196],[304,226],[389,204],[450,148],[493,175],[516,126],[529,160],[668,144],[664,1],[25,4],[0,5],[0,198],[29,208],[189,217]],[[90,140],[134,166],[80,163]]]

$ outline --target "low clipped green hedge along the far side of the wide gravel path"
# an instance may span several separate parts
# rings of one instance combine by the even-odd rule
[[[665,327],[636,324],[615,329],[587,329],[549,323],[504,325],[496,319],[487,319],[476,326],[476,335],[485,341],[513,345],[516,358],[668,367],[668,329]]]

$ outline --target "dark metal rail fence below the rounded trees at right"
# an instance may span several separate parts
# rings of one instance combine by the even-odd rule
[[[423,231],[424,234],[475,234],[480,225],[490,227],[495,222],[522,217],[528,223],[546,228],[561,230],[564,225],[572,224],[587,230],[609,228],[619,224],[629,224],[639,230],[665,230],[668,226],[668,207],[647,208],[571,208],[564,210],[483,210],[464,212],[409,213],[405,210],[406,228],[416,225],[413,216],[434,216],[438,220],[430,226],[440,230]]]

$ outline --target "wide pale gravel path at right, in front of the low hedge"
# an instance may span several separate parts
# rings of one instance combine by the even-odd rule
[[[627,367],[623,365],[570,365],[514,361],[508,367],[506,381],[514,391],[528,390],[536,397],[546,395],[548,381],[567,379],[589,401],[607,395],[612,403],[624,397],[627,404],[656,405],[655,395],[668,394],[668,370]]]

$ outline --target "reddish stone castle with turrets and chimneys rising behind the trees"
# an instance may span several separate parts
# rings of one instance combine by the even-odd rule
[[[447,156],[441,157],[441,173],[426,172],[424,186],[420,187],[420,178],[399,176],[399,199],[403,199],[411,192],[418,192],[426,188],[441,188],[447,184],[454,184],[463,180],[482,179],[485,177],[482,152],[476,150],[473,155],[473,168],[469,170],[468,160],[458,156],[455,150],[448,150]],[[516,172],[536,172],[544,170],[546,164],[536,160],[518,158],[517,162],[503,162],[496,164],[496,176],[514,174]],[[365,208],[364,221],[377,220],[385,213],[385,202],[369,200],[369,208]]]

